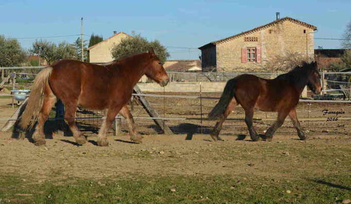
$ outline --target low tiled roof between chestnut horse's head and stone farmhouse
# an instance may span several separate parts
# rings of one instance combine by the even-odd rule
[[[199,59],[195,60],[167,60],[163,65],[166,71],[184,72],[192,67],[201,68]]]

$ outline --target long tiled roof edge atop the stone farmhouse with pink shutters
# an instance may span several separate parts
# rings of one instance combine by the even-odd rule
[[[259,26],[259,27],[256,27],[254,29],[251,29],[251,30],[248,30],[248,31],[245,31],[245,32],[241,32],[239,34],[236,34],[236,35],[233,35],[233,36],[230,36],[230,37],[226,37],[226,38],[223,38],[223,39],[220,39],[220,40],[216,40],[214,42],[211,42],[211,43],[208,43],[204,46],[201,46],[199,49],[201,50],[201,48],[205,47],[205,46],[208,46],[208,45],[217,45],[217,44],[220,44],[220,43],[224,43],[224,42],[227,42],[231,39],[234,39],[234,38],[237,38],[237,37],[240,37],[240,36],[243,36],[243,35],[247,35],[247,34],[250,34],[250,33],[253,33],[253,32],[256,32],[256,31],[259,31],[259,30],[262,30],[262,29],[265,29],[265,28],[268,28],[268,27],[271,27],[275,24],[278,24],[278,23],[282,23],[284,21],[290,21],[290,22],[293,22],[295,24],[299,24],[301,26],[305,26],[307,28],[310,28],[310,29],[313,29],[313,30],[316,30],[317,27],[313,26],[313,25],[310,25],[310,24],[307,24],[305,22],[302,22],[302,21],[299,21],[299,20],[296,20],[294,18],[291,18],[291,17],[284,17],[284,18],[279,18],[269,24],[266,24],[266,25],[263,25],[263,26]]]

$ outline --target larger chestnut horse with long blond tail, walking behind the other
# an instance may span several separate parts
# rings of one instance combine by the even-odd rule
[[[141,142],[143,137],[134,130],[133,117],[126,104],[132,96],[133,87],[144,74],[162,87],[169,82],[168,75],[152,48],[148,52],[114,60],[106,66],[62,59],[37,75],[20,126],[26,128],[30,124],[32,127],[38,118],[33,139],[35,145],[45,145],[44,123],[59,98],[65,105],[64,119],[79,145],[85,144],[86,139],[75,124],[77,106],[89,110],[107,110],[107,118],[103,121],[97,138],[99,146],[109,145],[107,131],[118,112],[128,121],[131,139]],[[44,99],[40,97],[42,92]]]

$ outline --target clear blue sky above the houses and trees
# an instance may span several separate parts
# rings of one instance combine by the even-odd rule
[[[133,30],[167,46],[171,60],[199,59],[201,47],[280,17],[317,26],[318,38],[342,38],[351,22],[351,1],[29,1],[0,0],[0,34],[19,38],[29,49],[34,38],[99,34]],[[84,36],[84,39],[89,39]],[[45,38],[73,43],[79,36]],[[340,40],[314,39],[314,47],[341,48]]]

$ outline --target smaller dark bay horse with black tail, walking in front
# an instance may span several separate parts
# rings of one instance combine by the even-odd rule
[[[211,137],[220,140],[218,135],[223,121],[236,105],[241,105],[245,110],[245,123],[253,141],[260,139],[252,125],[255,107],[265,112],[278,112],[275,124],[266,132],[266,140],[272,140],[274,132],[283,125],[288,115],[297,130],[297,135],[302,140],[307,139],[296,115],[296,106],[306,85],[315,94],[322,91],[317,63],[305,63],[274,79],[264,79],[251,74],[242,74],[230,79],[218,104],[208,114],[209,119],[219,118],[210,133]]]

